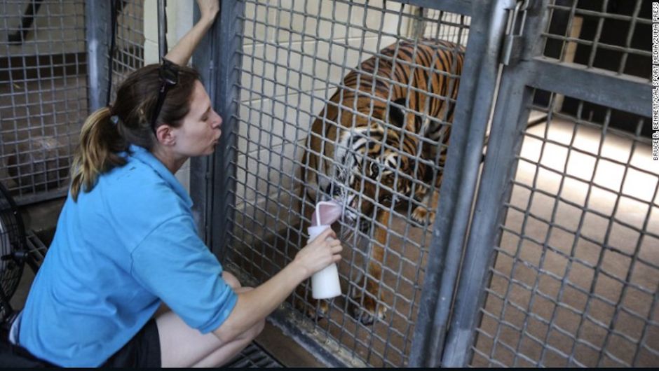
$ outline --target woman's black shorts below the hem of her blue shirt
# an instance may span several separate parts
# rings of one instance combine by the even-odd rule
[[[161,367],[160,337],[151,318],[121,349],[100,367]]]

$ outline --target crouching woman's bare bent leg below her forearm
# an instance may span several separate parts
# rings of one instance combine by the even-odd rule
[[[236,293],[253,289],[240,287],[238,279],[227,272],[223,272],[222,278]],[[190,328],[172,311],[157,316],[156,324],[163,367],[217,367],[231,360],[250,344],[263,330],[265,321],[259,321],[236,339],[224,344],[212,332],[202,335],[198,330]]]

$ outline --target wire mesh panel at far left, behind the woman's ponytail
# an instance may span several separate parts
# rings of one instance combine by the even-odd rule
[[[19,203],[57,197],[87,115],[84,1],[0,8],[0,181]]]

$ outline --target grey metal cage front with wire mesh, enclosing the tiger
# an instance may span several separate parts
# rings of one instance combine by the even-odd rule
[[[222,149],[191,167],[200,233],[258,284],[306,244],[315,202],[344,200],[344,295],[313,302],[305,283],[271,317],[328,365],[657,365],[648,12],[641,0],[223,1],[195,56],[224,118]],[[439,38],[463,45],[461,73],[414,59]],[[405,43],[406,67],[459,81],[456,97],[379,74],[405,64]],[[450,127],[450,141],[391,112]],[[414,196],[423,188],[438,204]]]

